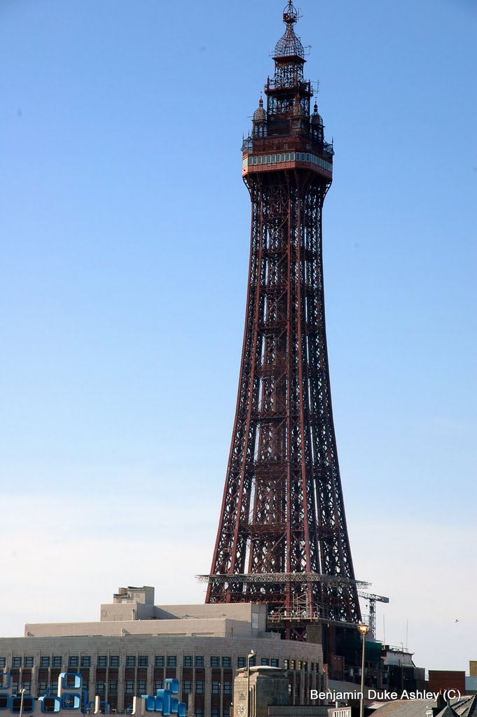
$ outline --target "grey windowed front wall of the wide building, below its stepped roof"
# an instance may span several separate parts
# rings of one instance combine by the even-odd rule
[[[99,693],[118,712],[131,706],[133,695],[154,693],[164,679],[178,678],[189,717],[229,717],[232,682],[250,650],[256,651],[258,665],[273,660],[286,670],[294,703],[308,703],[310,690],[323,688],[321,645],[260,637],[5,637],[0,639],[0,668],[11,671],[18,688],[34,696],[55,686],[61,671],[78,670],[89,694]]]

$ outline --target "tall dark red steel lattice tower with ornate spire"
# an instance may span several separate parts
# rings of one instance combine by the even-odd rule
[[[326,143],[291,0],[267,108],[242,146],[252,201],[247,313],[235,427],[206,602],[266,602],[303,639],[356,624],[359,602],[331,410],[321,212]],[[272,625],[273,627],[273,625]]]

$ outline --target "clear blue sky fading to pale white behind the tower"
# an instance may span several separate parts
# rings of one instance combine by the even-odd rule
[[[245,309],[240,144],[283,4],[0,2],[0,635],[95,619],[120,584],[204,599]],[[378,637],[408,620],[418,665],[466,669],[476,4],[301,9],[336,149],[326,318],[356,575],[391,599]]]

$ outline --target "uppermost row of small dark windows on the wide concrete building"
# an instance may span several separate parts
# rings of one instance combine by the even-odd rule
[[[39,666],[40,668],[49,668],[50,666],[53,668],[61,668],[62,667],[62,661],[63,658],[61,655],[54,656],[54,657],[40,657],[39,660]],[[247,663],[246,657],[237,657],[237,668],[245,668]],[[136,665],[140,668],[147,668],[149,664],[148,655],[126,655],[126,667],[127,668],[133,668],[136,667]],[[278,668],[279,667],[279,660],[276,657],[263,657],[261,660],[262,665],[270,665],[270,667]],[[23,665],[24,668],[32,668],[34,665],[34,658],[33,657],[13,657],[11,661],[12,668],[21,668]],[[121,660],[119,655],[98,655],[98,661],[97,661],[98,668],[118,668],[121,665]],[[232,668],[232,657],[218,657],[218,656],[212,656],[210,657],[210,667],[211,668],[219,668],[222,665],[222,668]],[[252,667],[255,667],[256,665],[256,659],[255,657],[252,657],[250,659],[250,665]],[[184,655],[183,659],[183,666],[184,668],[203,668],[204,665],[204,657],[202,655]],[[6,657],[0,657],[0,668],[6,667]],[[90,668],[91,667],[91,657],[85,656],[85,657],[70,657],[68,659],[68,668]],[[177,657],[176,655],[167,655],[167,657],[164,657],[164,655],[156,655],[154,657],[154,667],[156,668],[175,668],[177,667]],[[285,670],[305,670],[308,672],[308,663],[303,662],[302,660],[283,660],[283,668]],[[310,670],[313,671],[315,669],[315,663],[310,663]],[[316,664],[316,670],[318,670],[318,664]]]

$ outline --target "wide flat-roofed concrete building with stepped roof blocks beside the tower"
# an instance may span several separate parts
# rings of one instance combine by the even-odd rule
[[[265,626],[264,605],[156,606],[154,588],[125,588],[101,605],[100,622],[30,623],[24,637],[1,638],[0,670],[34,697],[77,671],[118,713],[176,678],[189,716],[230,717],[235,674],[253,650],[250,665],[286,670],[290,703],[308,704],[325,683],[321,645],[280,640]]]

